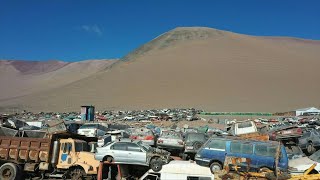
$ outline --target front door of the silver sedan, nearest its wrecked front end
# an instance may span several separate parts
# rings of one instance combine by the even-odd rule
[[[133,164],[147,164],[147,153],[136,143],[128,143],[128,159]]]

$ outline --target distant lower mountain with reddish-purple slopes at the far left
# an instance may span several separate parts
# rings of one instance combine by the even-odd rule
[[[67,85],[104,70],[114,62],[0,60],[0,101]]]

